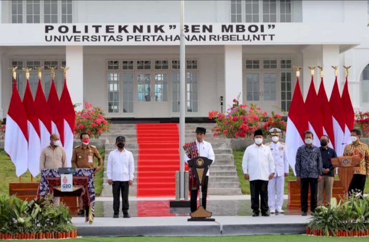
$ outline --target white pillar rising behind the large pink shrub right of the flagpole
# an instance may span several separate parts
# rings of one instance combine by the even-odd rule
[[[232,106],[233,99],[240,93],[240,103],[242,103],[242,45],[224,46],[224,83],[223,112]]]

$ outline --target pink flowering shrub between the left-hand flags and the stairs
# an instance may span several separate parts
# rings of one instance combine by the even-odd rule
[[[101,108],[85,103],[84,109],[76,113],[74,134],[88,133],[91,138],[98,139],[102,133],[108,132],[110,124]]]

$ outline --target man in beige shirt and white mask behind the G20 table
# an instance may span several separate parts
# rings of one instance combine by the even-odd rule
[[[66,154],[64,148],[60,145],[59,134],[50,135],[50,145],[41,151],[40,171],[42,169],[57,169],[66,167]],[[60,197],[53,198],[55,206],[60,203]]]

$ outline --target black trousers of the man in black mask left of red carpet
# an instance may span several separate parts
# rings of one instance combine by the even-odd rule
[[[128,191],[129,184],[128,181],[113,181],[113,209],[114,214],[119,214],[120,207],[120,195],[122,191],[122,211],[127,212],[129,209],[128,203]]]

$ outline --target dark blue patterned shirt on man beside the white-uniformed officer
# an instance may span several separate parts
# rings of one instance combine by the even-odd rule
[[[300,146],[296,153],[296,177],[318,178],[322,175],[322,156],[316,146]]]

